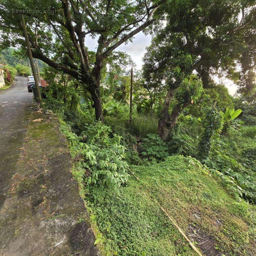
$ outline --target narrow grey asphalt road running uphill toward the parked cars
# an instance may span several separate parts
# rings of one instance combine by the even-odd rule
[[[16,170],[33,100],[28,78],[17,76],[16,81],[9,90],[0,91],[0,207]]]

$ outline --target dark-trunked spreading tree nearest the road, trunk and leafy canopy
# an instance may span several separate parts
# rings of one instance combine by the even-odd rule
[[[83,84],[94,101],[96,118],[101,119],[102,68],[114,57],[119,45],[131,41],[134,35],[153,23],[154,13],[165,1],[2,0],[0,46],[18,44],[21,54],[26,55],[20,13],[12,12],[25,8],[21,13],[27,23],[33,57]],[[88,37],[98,40],[95,52],[86,47]]]

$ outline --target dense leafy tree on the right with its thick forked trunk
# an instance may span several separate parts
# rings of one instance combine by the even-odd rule
[[[162,138],[168,136],[182,108],[195,103],[184,99],[183,106],[177,106],[179,111],[168,114],[174,91],[188,75],[195,73],[204,88],[214,88],[213,75],[232,74],[234,78],[238,64],[244,67],[243,56],[248,51],[251,62],[239,73],[240,78],[255,69],[255,12],[253,1],[238,0],[176,0],[159,8],[159,20],[151,26],[155,36],[145,54],[143,69],[148,81],[167,88],[158,127],[162,128],[158,130]],[[252,82],[252,76],[249,80]],[[247,85],[240,84],[239,88],[247,90]]]

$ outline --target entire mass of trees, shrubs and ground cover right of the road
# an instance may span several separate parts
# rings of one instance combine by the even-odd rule
[[[67,137],[101,254],[195,255],[161,206],[205,255],[255,255],[255,3],[51,6],[54,15],[24,19],[33,57],[48,64],[44,108]],[[0,17],[0,47],[19,44],[15,54],[25,58],[20,16]],[[152,41],[131,79],[134,63],[116,48],[140,31]],[[97,38],[95,51],[85,36]],[[229,95],[218,76],[239,94]]]

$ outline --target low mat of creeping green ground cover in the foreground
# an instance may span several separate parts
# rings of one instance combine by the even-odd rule
[[[103,255],[195,255],[155,200],[191,240],[204,234],[220,254],[255,255],[255,206],[236,202],[193,159],[172,156],[132,169],[139,181],[131,176],[118,190],[84,188]]]

